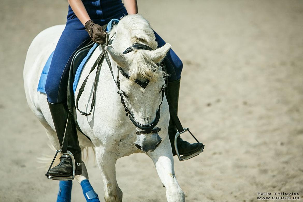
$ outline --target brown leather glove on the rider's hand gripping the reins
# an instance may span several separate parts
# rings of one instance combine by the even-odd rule
[[[88,32],[91,39],[97,44],[106,43],[106,33],[102,31],[102,27],[92,20],[85,22],[85,30]]]

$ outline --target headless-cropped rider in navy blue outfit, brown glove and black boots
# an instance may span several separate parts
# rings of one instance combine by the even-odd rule
[[[68,140],[68,151],[72,152],[76,162],[75,175],[82,174],[81,148],[75,124],[67,123],[68,107],[66,103],[66,91],[68,81],[68,69],[75,52],[90,40],[98,44],[106,42],[106,35],[102,30],[102,25],[107,24],[111,19],[121,19],[125,15],[137,14],[136,0],[68,0],[68,14],[65,29],[55,48],[52,62],[49,68],[48,77],[45,84],[47,101],[52,114],[55,130],[62,144],[65,127],[72,131]],[[125,6],[125,7],[124,7]],[[165,41],[155,33],[158,47],[165,44]],[[178,110],[178,97],[180,87],[180,77],[182,62],[173,50],[167,54],[165,59],[170,65],[167,71],[168,94],[175,110]],[[172,151],[175,155],[174,137],[176,127],[170,120],[169,138],[171,140]],[[189,155],[195,153],[203,147],[201,143],[190,144],[178,137],[177,146],[179,153]],[[78,163],[78,165],[77,165]],[[49,175],[55,177],[71,177],[72,161],[69,155],[62,155],[60,163],[49,171]]]

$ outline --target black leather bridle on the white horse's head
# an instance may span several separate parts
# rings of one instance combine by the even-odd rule
[[[111,62],[110,62],[110,60],[108,58],[108,54],[107,54],[107,52],[106,52],[106,50],[104,48],[104,45],[101,45],[101,47],[102,47],[103,54],[105,55],[105,60],[106,60],[106,62],[108,64],[108,67],[109,67],[111,73],[112,73],[112,77],[113,77],[113,79],[114,79],[114,81],[115,81],[115,83],[116,83],[116,85],[118,87],[118,90],[119,90],[118,94],[121,97],[121,104],[123,105],[124,110],[126,112],[125,115],[129,117],[129,119],[132,121],[132,123],[136,127],[138,127],[139,129],[142,130],[142,131],[136,131],[136,134],[150,134],[150,133],[157,133],[157,132],[161,131],[161,128],[159,128],[159,127],[157,127],[156,129],[153,129],[153,128],[155,128],[157,126],[157,124],[158,124],[158,122],[160,120],[160,107],[161,107],[161,104],[162,104],[163,99],[164,99],[164,90],[162,89],[162,101],[159,104],[159,109],[158,109],[158,111],[156,113],[155,121],[153,121],[151,124],[148,124],[148,125],[144,125],[144,124],[139,123],[135,119],[135,117],[132,115],[132,113],[130,112],[130,110],[127,108],[127,106],[125,104],[125,101],[124,101],[124,98],[123,98],[123,94],[122,94],[122,92],[120,90],[119,73],[121,73],[121,75],[123,75],[127,79],[129,79],[130,76],[128,74],[126,74],[121,67],[117,66],[117,68],[118,68],[118,76],[117,76],[117,81],[116,81],[115,78],[114,78],[113,70],[112,70],[112,64],[111,64]],[[148,50],[148,51],[152,51],[153,50],[151,47],[149,47],[147,45],[144,45],[144,44],[135,44],[135,45],[132,45],[132,46],[126,48],[125,51],[123,52],[123,54],[132,52],[132,51],[134,51],[136,49],[137,50]],[[135,79],[135,83],[138,84],[139,86],[141,86],[144,89],[147,87],[147,85],[148,85],[149,82],[150,81],[148,79],[146,79],[146,81],[144,83],[141,82],[138,79]]]

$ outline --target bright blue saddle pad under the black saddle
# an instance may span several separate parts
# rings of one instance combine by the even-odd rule
[[[109,32],[112,30],[112,27],[117,24],[119,22],[118,19],[112,19],[110,22],[108,22],[107,24],[107,28],[106,28],[106,31]],[[81,72],[82,72],[82,69],[86,63],[86,61],[88,60],[88,58],[92,55],[93,51],[98,47],[98,44],[95,44],[89,51],[88,51],[88,54],[86,55],[86,57],[82,60],[82,62],[80,63],[79,67],[77,68],[77,71],[76,71],[76,74],[75,74],[75,80],[74,80],[74,83],[73,83],[73,91],[75,93],[76,91],[76,88],[77,88],[77,85],[78,85],[78,81],[79,81],[79,78],[80,78],[80,75],[81,75]],[[45,83],[46,83],[46,78],[47,78],[47,75],[48,75],[48,70],[49,70],[49,66],[51,65],[51,62],[52,62],[52,58],[53,58],[53,55],[54,55],[54,51],[52,52],[52,54],[48,57],[44,67],[43,67],[43,70],[42,70],[42,73],[41,73],[41,76],[40,76],[40,80],[39,80],[39,83],[38,83],[38,89],[37,91],[39,92],[42,92],[42,93],[45,93]]]

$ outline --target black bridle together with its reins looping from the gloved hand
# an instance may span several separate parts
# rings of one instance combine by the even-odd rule
[[[115,36],[115,34],[113,35]],[[112,36],[112,37],[113,37]],[[112,39],[111,37],[111,39]],[[106,43],[106,45],[110,45],[112,43],[112,40],[108,40],[108,35],[107,35],[107,40],[106,41],[109,41]],[[118,88],[118,94],[120,95],[120,98],[121,98],[121,104],[123,105],[124,107],[124,110],[126,112],[126,116],[129,117],[129,119],[132,121],[132,123],[138,127],[139,129],[141,129],[142,131],[136,131],[136,134],[153,134],[153,133],[157,133],[159,131],[161,131],[161,128],[159,127],[156,127],[159,120],[160,120],[160,107],[161,107],[161,104],[163,102],[163,99],[164,99],[164,90],[162,89],[162,101],[161,103],[159,104],[159,109],[156,113],[156,118],[155,118],[155,121],[153,121],[151,124],[148,124],[148,125],[144,125],[144,124],[141,124],[139,123],[135,117],[132,115],[131,111],[127,108],[126,104],[125,104],[125,101],[124,101],[124,98],[123,98],[123,94],[120,90],[120,79],[119,79],[119,73],[121,73],[121,75],[123,75],[125,78],[129,79],[130,76],[128,74],[126,74],[123,69],[121,67],[117,67],[118,68],[118,76],[117,76],[117,80],[115,80],[115,77],[114,77],[114,73],[113,73],[113,69],[112,69],[112,64],[109,60],[109,57],[108,57],[108,53],[107,51],[105,50],[104,48],[104,45],[101,45],[101,48],[102,48],[102,53],[99,55],[99,57],[97,58],[97,60],[95,61],[94,65],[92,66],[90,72],[88,73],[87,77],[85,78],[85,80],[83,81],[80,89],[79,89],[79,93],[77,95],[77,98],[76,98],[76,109],[82,114],[82,115],[85,115],[85,116],[89,116],[92,114],[92,110],[94,108],[94,105],[95,105],[95,95],[96,95],[96,90],[97,90],[97,83],[98,83],[98,78],[99,78],[99,75],[100,75],[100,70],[101,70],[101,66],[102,66],[102,62],[105,58],[107,64],[108,64],[108,67],[109,67],[109,70],[111,71],[111,74],[112,74],[112,78],[114,79],[115,81],[115,84]],[[125,51],[123,52],[123,54],[126,54],[126,53],[129,53],[129,52],[132,52],[134,51],[135,49],[137,50],[149,50],[149,51],[152,51],[153,49],[147,45],[144,45],[144,44],[135,44],[135,45],[132,45],[128,48],[125,49]],[[84,88],[85,88],[85,85],[86,85],[86,82],[88,80],[88,76],[92,73],[92,71],[96,68],[97,66],[97,71],[96,71],[96,75],[95,75],[95,80],[94,80],[94,90],[93,90],[93,98],[92,98],[92,103],[91,103],[91,109],[89,112],[84,112],[84,111],[81,111],[79,110],[78,108],[78,101],[84,91]],[[146,81],[143,83],[141,82],[140,80],[138,79],[135,79],[135,83],[140,85],[142,88],[146,88],[147,85],[149,84],[149,80],[146,79]],[[155,128],[156,127],[156,128]],[[155,128],[155,129],[154,129]]]

